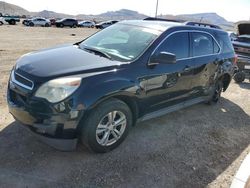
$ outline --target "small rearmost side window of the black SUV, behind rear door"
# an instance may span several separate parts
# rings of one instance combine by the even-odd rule
[[[217,41],[221,47],[221,52],[222,53],[232,53],[234,52],[234,48],[233,48],[233,45],[232,45],[232,42],[228,36],[227,33],[220,33],[220,34],[217,34]]]

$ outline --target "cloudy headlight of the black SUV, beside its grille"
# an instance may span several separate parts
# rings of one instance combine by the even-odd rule
[[[56,103],[68,96],[80,86],[81,78],[59,78],[43,84],[36,92],[36,97]]]

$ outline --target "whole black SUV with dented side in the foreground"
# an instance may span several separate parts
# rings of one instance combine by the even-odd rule
[[[14,118],[46,143],[117,147],[137,121],[216,103],[233,75],[228,34],[164,21],[123,21],[74,45],[33,52],[11,71]]]

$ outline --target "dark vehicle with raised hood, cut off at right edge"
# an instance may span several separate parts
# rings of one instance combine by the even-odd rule
[[[234,80],[241,83],[245,79],[250,81],[250,22],[239,22],[236,27],[238,36],[233,41],[233,46],[238,56],[238,70]]]

